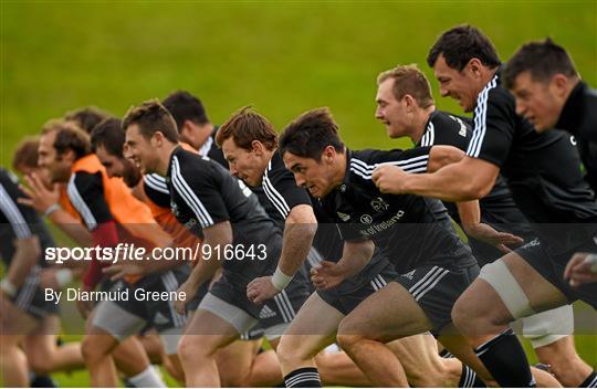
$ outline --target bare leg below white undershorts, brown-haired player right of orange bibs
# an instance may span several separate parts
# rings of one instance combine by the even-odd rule
[[[178,345],[187,386],[219,387],[216,351],[238,337],[239,333],[230,323],[209,311],[197,309]]]

